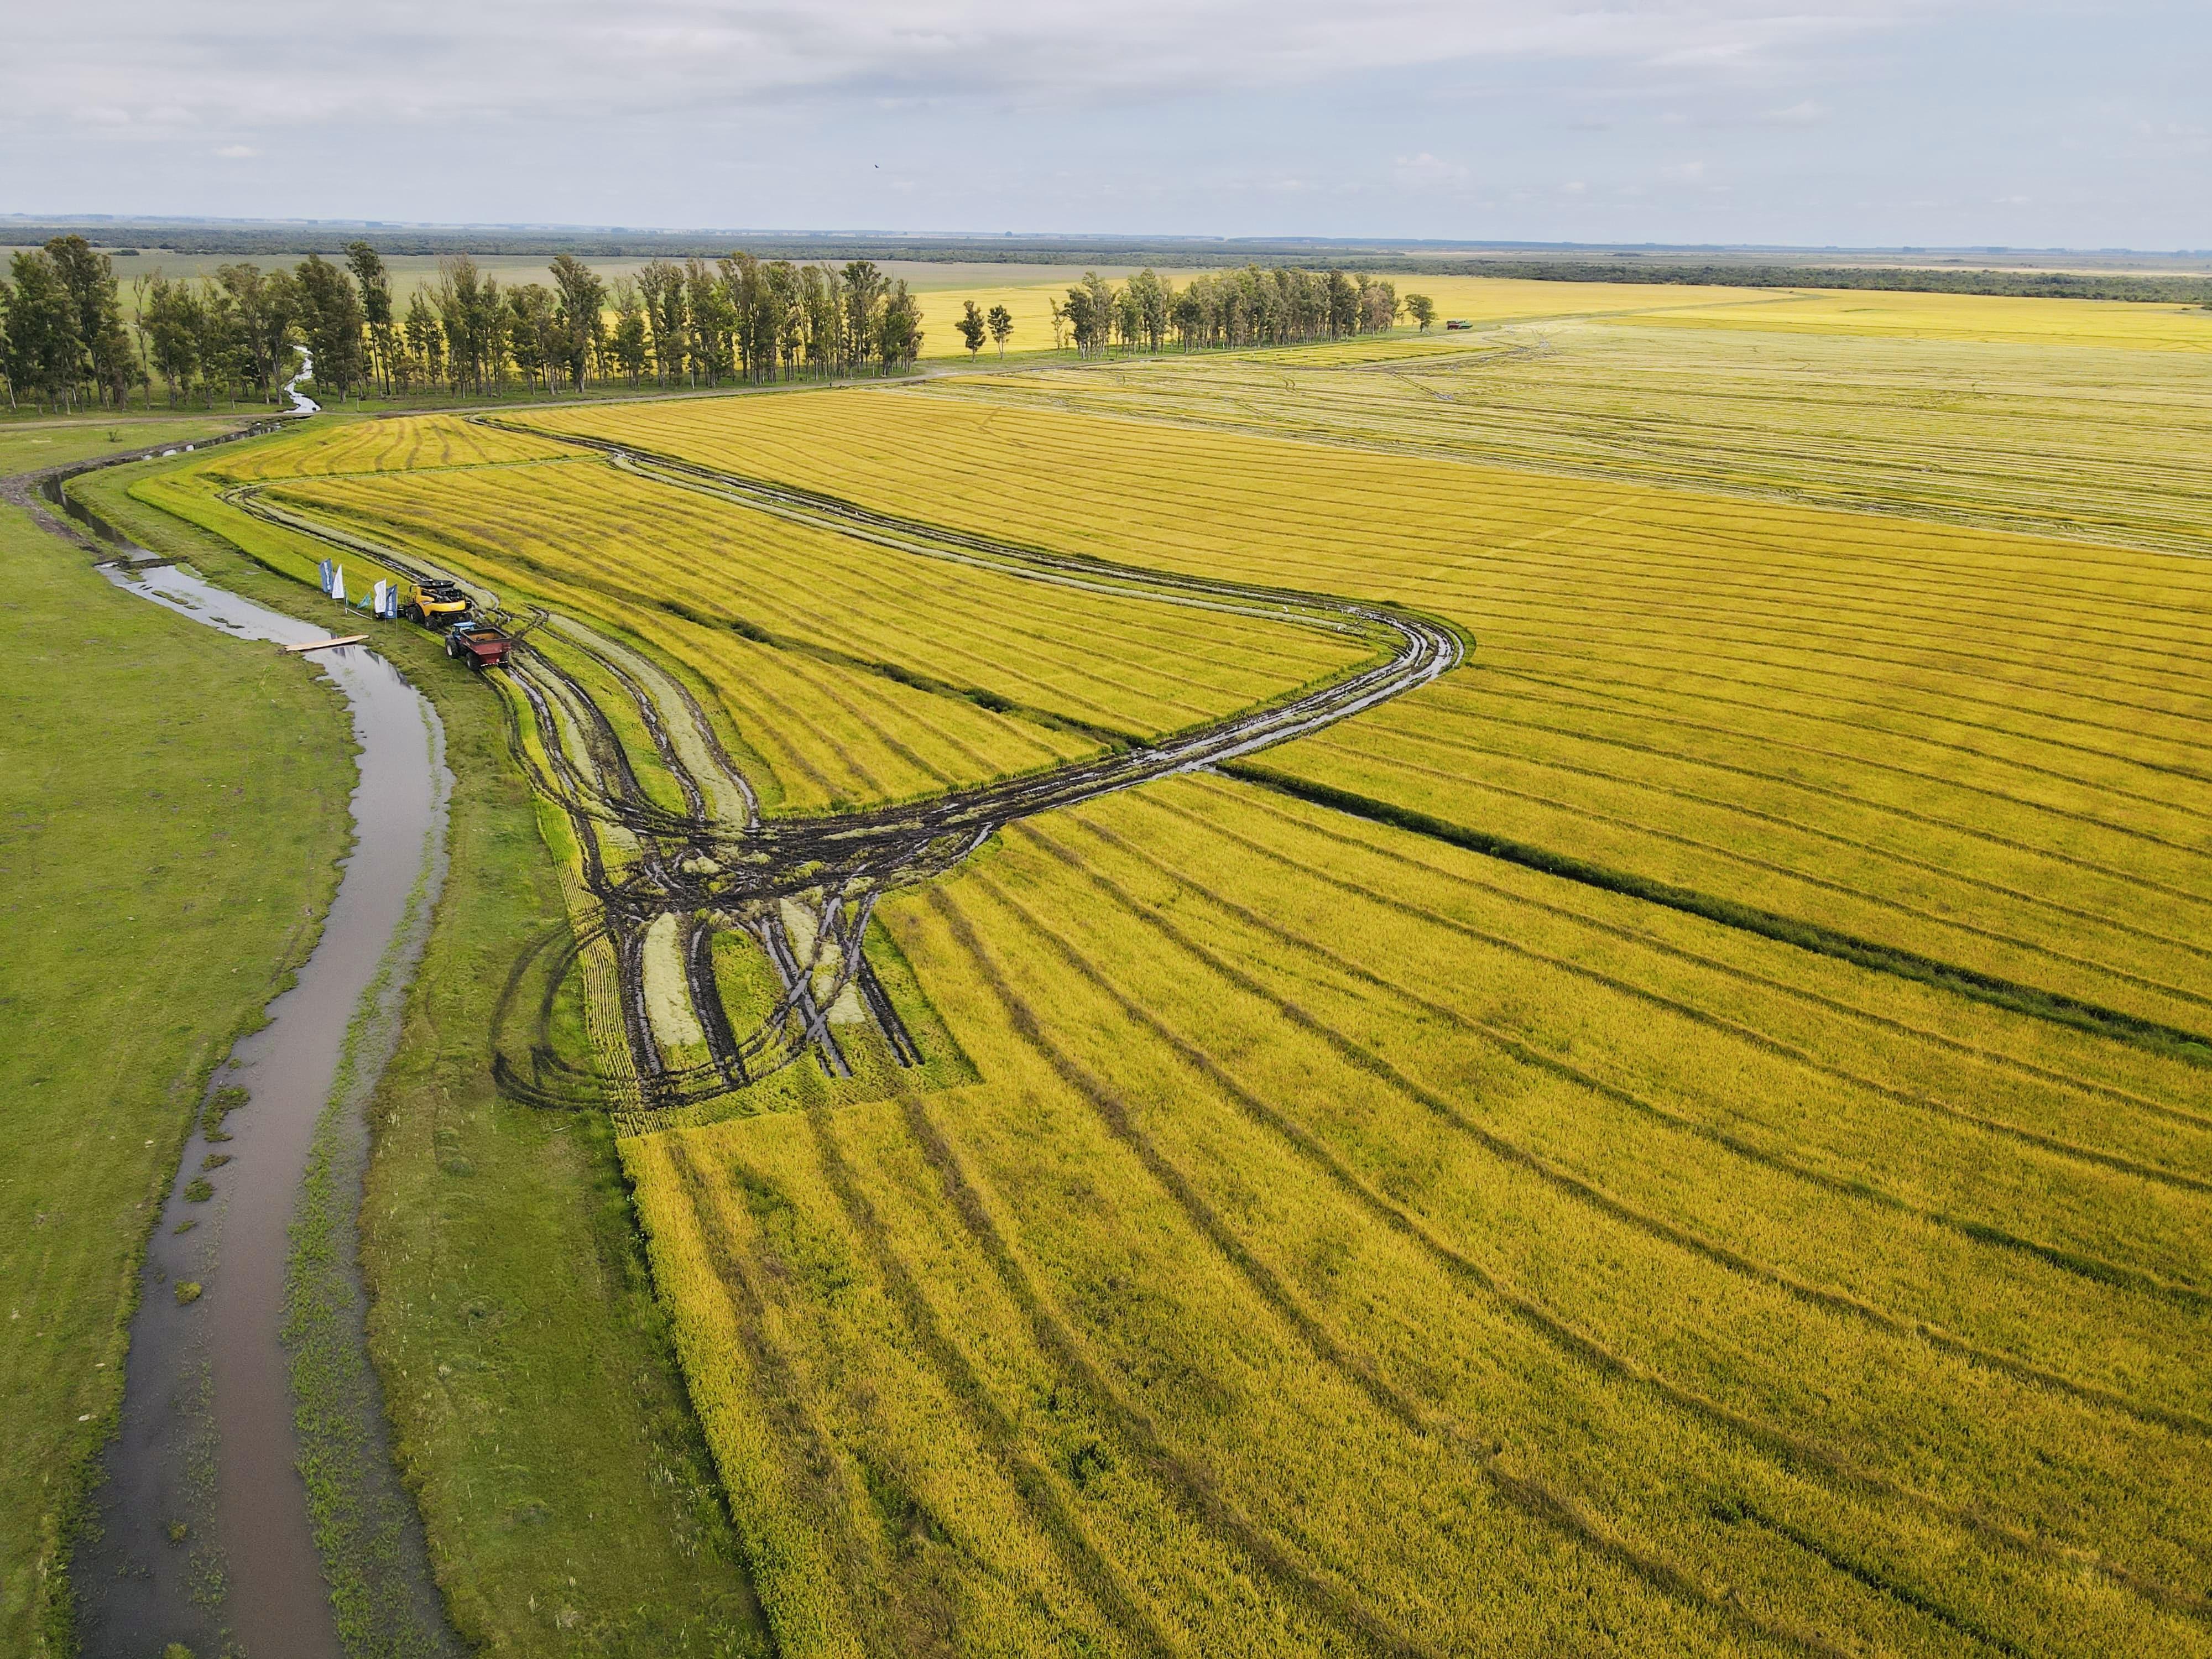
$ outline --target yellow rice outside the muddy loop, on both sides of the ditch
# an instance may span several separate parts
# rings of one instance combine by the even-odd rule
[[[1471,666],[1270,774],[2212,1029],[2203,564],[1179,374],[858,396],[836,442],[821,400],[549,425],[1422,606]],[[1878,495],[1913,436],[1860,418]],[[2006,509],[2000,460],[1918,465]],[[887,920],[982,1084],[626,1144],[794,1650],[2212,1646],[2181,1053],[1223,779]]]

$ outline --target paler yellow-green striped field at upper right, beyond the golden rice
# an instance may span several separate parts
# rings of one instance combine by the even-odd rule
[[[938,389],[2212,551],[2212,356],[2201,349],[2212,343],[2212,312],[1975,301],[2051,327],[2035,336],[2015,325],[2008,334],[2024,338],[1980,343],[1854,332],[1893,312],[1818,299],[1394,336],[1234,363],[1068,365]],[[2119,343],[2119,323],[2101,323],[2108,310],[2126,314],[2132,343]],[[2062,334],[2068,314],[2099,327]],[[1692,327],[1723,319],[1725,330]],[[2146,349],[2157,352],[2148,363]]]

